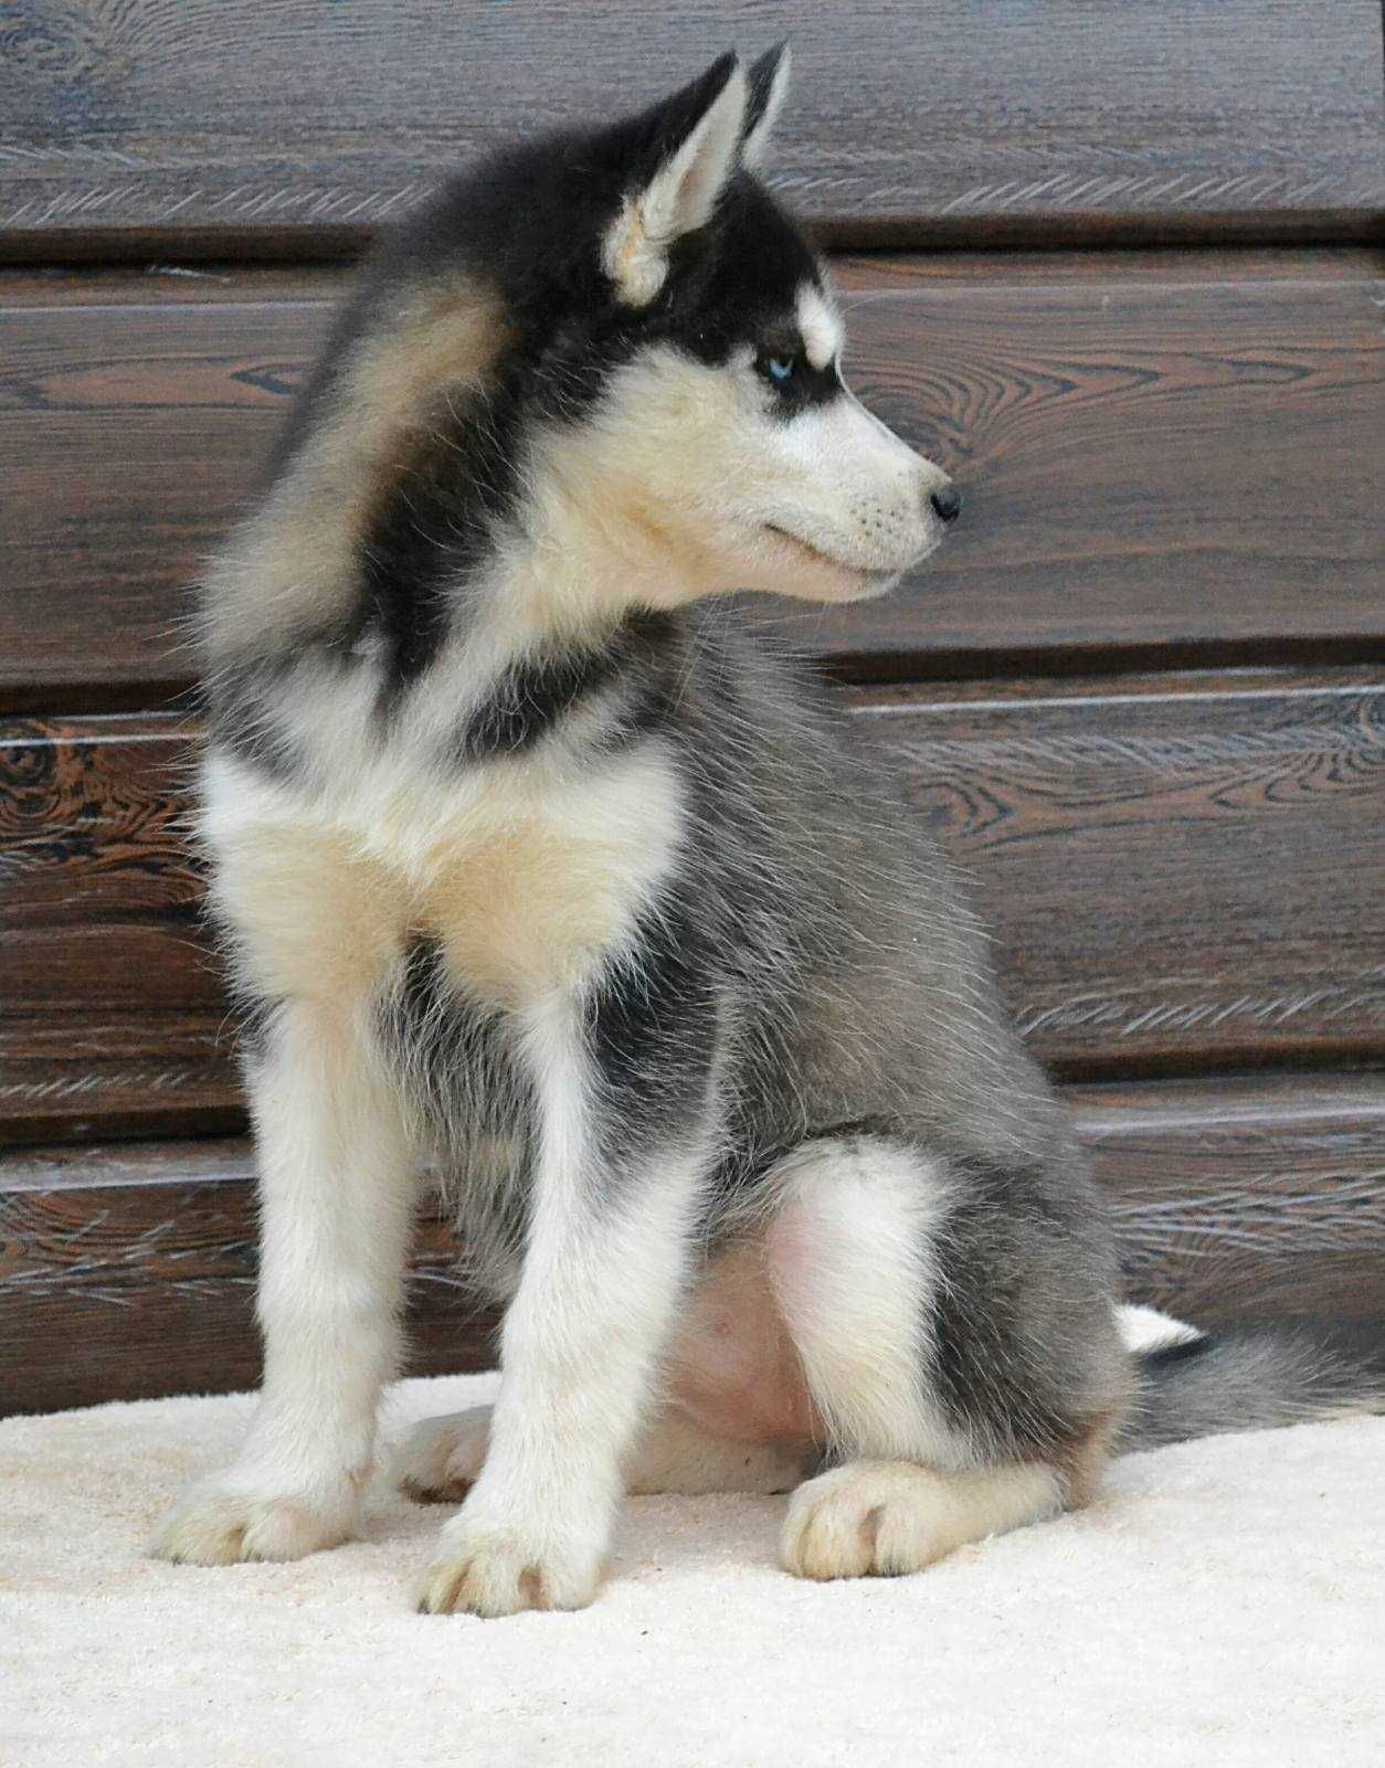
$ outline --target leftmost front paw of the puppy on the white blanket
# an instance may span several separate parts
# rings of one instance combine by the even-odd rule
[[[150,1542],[175,1565],[239,1565],[244,1559],[302,1559],[356,1533],[357,1489],[333,1494],[262,1492],[216,1476],[193,1485]]]

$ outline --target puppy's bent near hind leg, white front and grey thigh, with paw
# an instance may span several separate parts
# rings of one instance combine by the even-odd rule
[[[785,1566],[916,1572],[1081,1501],[1123,1360],[1022,1186],[877,1137],[807,1144],[775,1185],[769,1282],[837,1462],[792,1496]]]

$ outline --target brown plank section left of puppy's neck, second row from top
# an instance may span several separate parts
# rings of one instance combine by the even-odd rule
[[[249,301],[0,311],[0,681],[18,697],[186,688],[186,585],[246,506],[325,316]]]

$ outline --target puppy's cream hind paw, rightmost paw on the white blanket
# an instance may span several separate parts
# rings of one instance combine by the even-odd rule
[[[780,1559],[796,1577],[900,1577],[941,1559],[948,1536],[941,1475],[900,1460],[858,1460],[807,1480],[789,1499]]]

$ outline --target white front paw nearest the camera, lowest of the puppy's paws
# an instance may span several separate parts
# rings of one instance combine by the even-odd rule
[[[419,1614],[585,1609],[601,1581],[603,1542],[513,1520],[460,1515],[419,1588]]]

